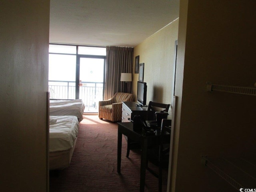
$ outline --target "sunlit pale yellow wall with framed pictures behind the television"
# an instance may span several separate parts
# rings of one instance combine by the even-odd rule
[[[172,102],[174,48],[177,39],[178,19],[134,48],[134,66],[135,57],[138,55],[140,63],[144,63],[144,82],[148,85],[147,104],[149,101],[166,104]],[[134,95],[137,94],[138,78],[138,74],[134,74],[133,67],[132,93]]]

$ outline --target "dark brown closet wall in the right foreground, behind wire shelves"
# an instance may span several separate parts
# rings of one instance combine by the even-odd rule
[[[254,1],[180,1],[172,191],[235,192],[201,156],[255,157],[255,96],[206,92],[206,82],[254,85],[255,6]]]

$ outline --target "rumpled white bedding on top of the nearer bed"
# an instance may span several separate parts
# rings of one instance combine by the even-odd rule
[[[78,135],[78,127],[76,116],[50,116],[49,151],[70,150]]]

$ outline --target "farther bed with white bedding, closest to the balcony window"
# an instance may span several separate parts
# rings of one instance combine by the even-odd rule
[[[84,103],[82,99],[75,100],[50,100],[50,115],[63,116],[72,115],[78,118],[78,121],[83,120]]]

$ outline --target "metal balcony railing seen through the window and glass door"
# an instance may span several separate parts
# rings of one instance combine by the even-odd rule
[[[76,97],[74,81],[48,81],[50,99],[68,100]],[[85,111],[90,107],[97,109],[98,101],[103,98],[102,82],[80,82],[79,98],[83,100]]]

